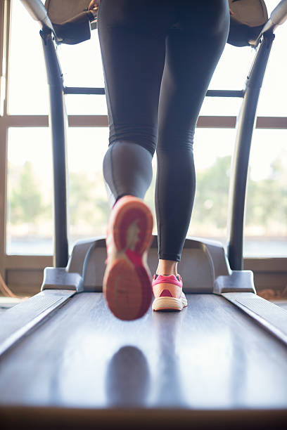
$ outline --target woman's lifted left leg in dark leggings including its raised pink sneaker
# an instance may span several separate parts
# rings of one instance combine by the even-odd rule
[[[104,0],[98,13],[110,126],[103,173],[111,202],[117,202],[108,223],[103,292],[123,320],[144,315],[152,297],[146,254],[153,217],[136,197],[144,197],[152,176],[165,37],[172,21],[168,4],[172,1]]]

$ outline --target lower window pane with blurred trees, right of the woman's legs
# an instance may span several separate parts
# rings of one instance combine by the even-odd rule
[[[189,235],[227,243],[231,155],[236,130],[197,129],[196,200]],[[287,131],[256,129],[250,153],[245,257],[287,256]],[[270,144],[272,143],[272,144]]]

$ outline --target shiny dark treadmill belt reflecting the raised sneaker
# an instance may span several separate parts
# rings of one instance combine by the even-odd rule
[[[1,357],[1,405],[287,408],[286,345],[223,297],[187,299],[127,322],[75,295]]]

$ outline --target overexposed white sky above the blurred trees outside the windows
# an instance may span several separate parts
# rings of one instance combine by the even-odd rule
[[[277,0],[266,1],[269,11],[277,3]],[[287,116],[286,40],[287,22],[276,30],[257,115]],[[227,45],[212,78],[210,89],[242,89],[253,56],[251,48]],[[96,31],[92,32],[90,41],[75,46],[62,46],[60,60],[66,85],[103,86]],[[15,0],[10,61],[10,113],[47,114],[46,72],[39,25],[31,19],[20,1]],[[238,99],[205,98],[201,115],[237,115],[240,103],[241,100]],[[106,114],[103,96],[69,96],[67,105],[68,112],[74,115]],[[216,157],[230,155],[234,139],[234,130],[197,129],[195,143],[197,169],[209,167],[215,162]],[[286,141],[286,130],[255,131],[250,159],[251,176],[254,179],[268,176],[270,164],[278,156],[285,157],[287,163]],[[68,133],[70,170],[84,171],[88,174],[93,174],[95,169],[101,170],[107,142],[107,129],[70,129]],[[39,170],[39,174],[43,174],[44,171],[51,172],[51,162],[48,161],[51,160],[49,130],[11,129],[8,159],[13,164],[23,164],[30,159],[35,169]]]

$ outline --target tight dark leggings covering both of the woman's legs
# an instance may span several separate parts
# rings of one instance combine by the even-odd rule
[[[228,32],[227,0],[101,0],[110,126],[103,174],[113,202],[144,198],[157,150],[160,259],[181,258],[196,185],[193,135]]]

